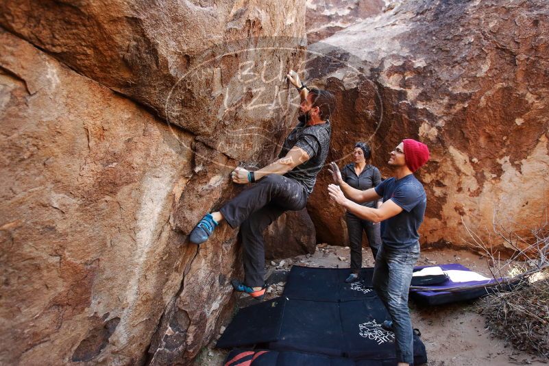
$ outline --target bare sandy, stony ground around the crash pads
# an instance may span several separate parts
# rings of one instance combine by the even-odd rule
[[[363,248],[363,267],[373,267],[374,260],[369,248]],[[418,265],[461,263],[478,273],[490,276],[485,258],[478,254],[456,249],[429,250],[422,252]],[[266,300],[280,296],[284,291],[285,274],[293,265],[308,267],[349,267],[349,248],[326,244],[317,245],[315,254],[306,254],[267,263],[270,284]],[[236,307],[255,304],[247,295],[238,298]],[[493,339],[485,328],[485,319],[476,311],[476,302],[461,302],[444,306],[425,307],[410,303],[414,328],[422,332],[427,349],[428,366],[448,365],[547,365],[536,356],[513,350],[501,339]],[[236,308],[235,312],[236,313]],[[225,325],[230,319],[226,319]],[[225,327],[221,328],[221,332]],[[221,332],[219,335],[221,335]],[[219,338],[219,336],[217,337]],[[193,366],[223,365],[227,354],[218,350],[215,342],[204,347]]]

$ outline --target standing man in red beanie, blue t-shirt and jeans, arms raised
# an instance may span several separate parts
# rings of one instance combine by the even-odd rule
[[[395,332],[399,366],[413,364],[413,329],[408,313],[408,289],[415,262],[419,258],[419,234],[427,197],[413,172],[429,160],[428,147],[419,141],[403,140],[389,158],[395,177],[367,191],[354,189],[341,179],[339,167],[330,163],[337,184],[328,186],[328,194],[337,204],[361,219],[381,222],[381,249],[376,256],[372,282],[392,320],[382,324]],[[340,188],[341,187],[341,188]],[[380,208],[361,206],[361,202],[383,197]]]

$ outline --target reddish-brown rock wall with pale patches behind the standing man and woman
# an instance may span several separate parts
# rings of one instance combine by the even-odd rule
[[[419,139],[432,156],[416,174],[428,197],[422,245],[474,247],[469,228],[501,247],[494,219],[528,236],[549,193],[548,15],[546,1],[404,1],[310,45],[341,60],[324,77],[339,102],[328,159],[342,166],[369,141],[389,177],[391,149]],[[308,209],[318,240],[343,245],[342,212],[318,188],[330,180],[319,175]]]

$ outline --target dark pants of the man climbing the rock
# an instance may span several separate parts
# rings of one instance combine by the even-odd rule
[[[265,284],[265,243],[263,230],[284,211],[302,210],[307,191],[297,181],[270,174],[231,199],[219,211],[234,229],[240,226],[243,245],[244,283]]]

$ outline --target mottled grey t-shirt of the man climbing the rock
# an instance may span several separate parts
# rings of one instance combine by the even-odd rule
[[[332,127],[330,121],[319,125],[308,126],[300,117],[300,122],[286,137],[278,158],[284,158],[292,147],[300,147],[309,156],[309,160],[297,165],[294,169],[284,174],[285,177],[297,180],[306,189],[307,193],[313,193],[313,187],[317,181],[317,174],[324,166],[328,149],[330,149],[330,135]]]

